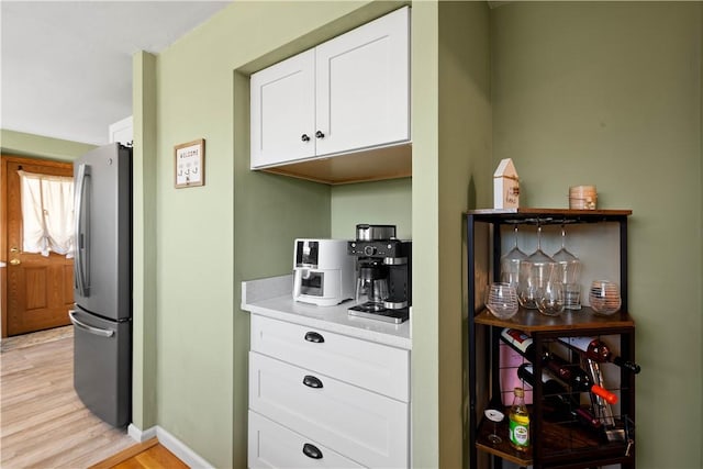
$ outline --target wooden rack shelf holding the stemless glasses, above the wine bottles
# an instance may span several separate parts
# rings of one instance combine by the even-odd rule
[[[521,308],[517,314],[510,320],[498,319],[484,308],[473,317],[473,321],[477,324],[517,328],[527,333],[635,327],[635,322],[626,312],[621,311],[612,316],[600,316],[593,313],[589,306],[583,306],[578,311],[565,311],[559,316],[546,316],[537,310]]]

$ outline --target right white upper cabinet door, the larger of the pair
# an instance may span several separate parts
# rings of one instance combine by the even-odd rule
[[[317,155],[410,139],[410,9],[316,47]]]

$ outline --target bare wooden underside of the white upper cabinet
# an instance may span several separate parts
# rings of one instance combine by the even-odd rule
[[[305,159],[260,170],[332,186],[408,178],[413,174],[412,145],[405,143],[346,155]]]

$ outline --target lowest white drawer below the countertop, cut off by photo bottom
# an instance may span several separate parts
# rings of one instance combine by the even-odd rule
[[[248,467],[250,469],[364,467],[326,446],[305,438],[252,411],[249,411],[248,445]],[[312,447],[306,445],[312,445]],[[320,456],[320,458],[314,456]]]

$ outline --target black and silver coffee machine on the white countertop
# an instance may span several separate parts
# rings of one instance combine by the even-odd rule
[[[412,242],[395,238],[394,225],[356,225],[347,253],[356,258],[356,305],[352,316],[400,324],[412,298]]]

